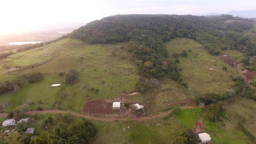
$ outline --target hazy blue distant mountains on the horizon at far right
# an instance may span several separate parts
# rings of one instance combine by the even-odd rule
[[[208,14],[203,14],[203,15],[198,14],[197,16],[211,16],[211,15],[221,15],[221,14],[222,13],[218,13],[218,12],[210,12]],[[256,10],[230,11],[224,14],[252,18],[252,17],[256,17]]]

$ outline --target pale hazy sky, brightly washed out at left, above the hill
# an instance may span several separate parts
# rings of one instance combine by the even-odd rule
[[[117,14],[206,14],[256,9],[256,0],[1,0],[0,34]]]

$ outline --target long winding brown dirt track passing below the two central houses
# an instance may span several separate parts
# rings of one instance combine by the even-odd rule
[[[198,107],[197,106],[184,106],[184,107],[181,107],[181,109],[185,109],[185,108],[198,108]],[[172,110],[169,110],[169,111],[166,111],[164,113],[160,113],[160,114],[157,114],[157,115],[154,115],[154,116],[138,117],[138,118],[131,118],[131,119],[132,120],[153,119],[153,118],[158,118],[158,117],[164,116],[165,114],[168,114],[170,112],[172,112]],[[115,121],[115,120],[126,121],[127,120],[127,118],[101,118],[101,117],[93,117],[93,116],[88,116],[88,115],[85,115],[85,114],[80,114],[80,113],[75,113],[75,112],[70,112],[70,111],[62,111],[62,110],[29,111],[26,114],[36,114],[36,113],[61,113],[61,114],[70,113],[71,115],[76,116],[76,117],[83,117],[83,118],[88,118],[88,119],[96,119],[96,120],[101,120],[101,121]],[[7,113],[0,113],[0,116],[1,117],[6,117]]]

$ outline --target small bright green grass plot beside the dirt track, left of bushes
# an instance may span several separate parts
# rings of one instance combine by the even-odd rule
[[[181,113],[175,114],[184,128],[193,129],[204,110],[201,108],[182,109]]]

